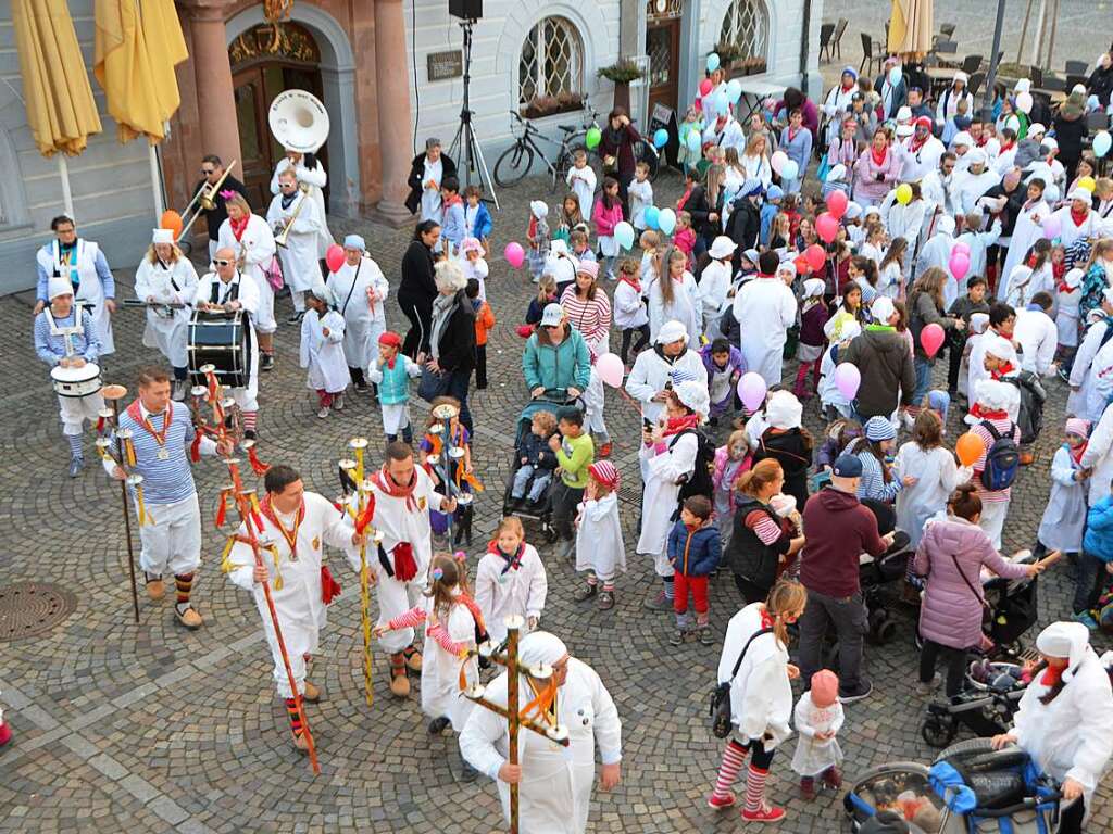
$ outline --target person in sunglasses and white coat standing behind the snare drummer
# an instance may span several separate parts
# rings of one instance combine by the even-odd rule
[[[85,305],[91,315],[100,342],[100,356],[116,351],[112,341],[112,318],[116,312],[116,279],[100,247],[91,240],[77,236],[73,219],[59,215],[50,221],[55,239],[39,249],[35,256],[39,278],[36,287],[35,315],[42,312],[50,301],[47,295],[48,281],[55,277],[66,278],[73,289],[73,297]]]

